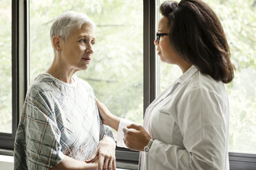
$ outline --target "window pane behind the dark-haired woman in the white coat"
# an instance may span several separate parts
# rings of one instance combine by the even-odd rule
[[[230,99],[229,150],[256,154],[256,14],[253,0],[205,0],[219,17],[235,64],[235,78],[226,84]],[[160,64],[160,91],[182,72]]]

